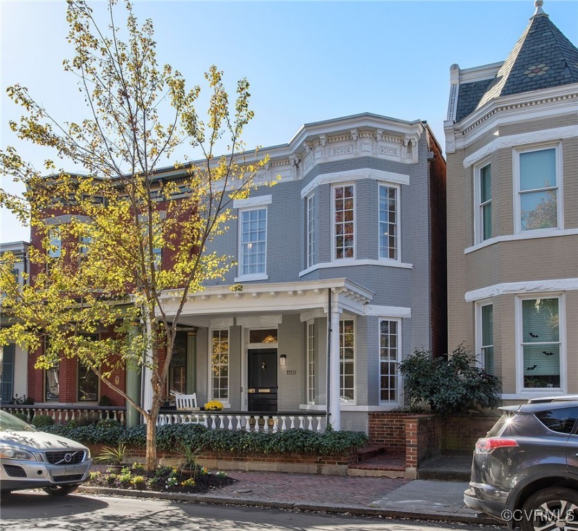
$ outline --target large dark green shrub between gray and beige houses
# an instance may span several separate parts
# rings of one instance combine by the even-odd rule
[[[461,344],[446,359],[416,350],[399,363],[412,406],[428,404],[433,413],[448,415],[500,404],[500,381],[476,366],[476,357]]]

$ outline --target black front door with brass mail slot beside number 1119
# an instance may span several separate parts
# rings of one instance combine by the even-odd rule
[[[249,411],[277,411],[277,349],[250,348]]]

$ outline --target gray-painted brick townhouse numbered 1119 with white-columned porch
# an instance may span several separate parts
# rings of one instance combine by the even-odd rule
[[[440,146],[426,122],[364,113],[260,151],[258,182],[280,180],[235,201],[209,249],[237,265],[190,297],[169,389],[365,430],[403,399],[396,362],[446,351]]]

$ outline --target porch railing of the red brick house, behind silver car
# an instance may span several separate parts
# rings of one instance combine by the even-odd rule
[[[33,422],[37,415],[47,415],[57,424],[64,424],[69,420],[80,420],[95,417],[118,420],[125,424],[126,408],[120,406],[66,406],[64,404],[2,404],[1,409],[8,413],[22,413],[28,422]]]

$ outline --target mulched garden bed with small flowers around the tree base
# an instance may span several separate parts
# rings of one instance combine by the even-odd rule
[[[143,465],[135,463],[132,466],[123,467],[118,472],[91,472],[89,481],[84,485],[151,492],[203,494],[232,485],[236,481],[228,477],[225,472],[209,472],[204,467],[190,470],[159,466],[155,472],[147,472]]]

